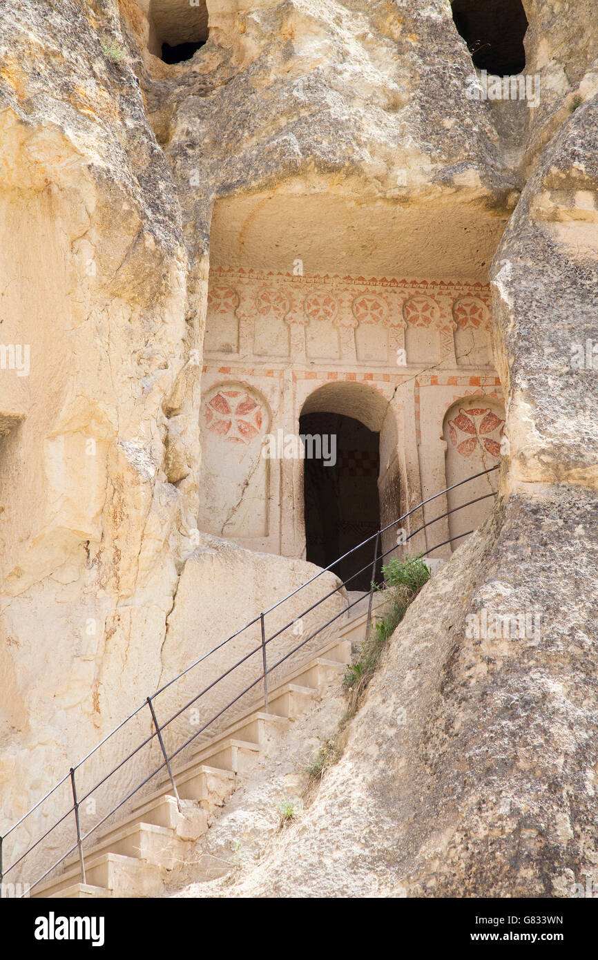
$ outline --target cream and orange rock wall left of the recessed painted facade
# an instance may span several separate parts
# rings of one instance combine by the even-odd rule
[[[179,204],[109,45],[117,12],[4,14],[1,329],[31,367],[2,372],[18,417],[0,457],[7,825],[155,688],[199,451]]]

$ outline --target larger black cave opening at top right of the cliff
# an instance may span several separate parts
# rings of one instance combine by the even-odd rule
[[[528,21],[521,0],[453,0],[451,7],[478,70],[498,77],[524,70]]]

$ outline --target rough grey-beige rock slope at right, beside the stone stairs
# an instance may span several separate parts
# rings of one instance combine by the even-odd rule
[[[317,801],[222,894],[570,897],[595,882],[594,512],[567,486],[501,503],[407,613]]]

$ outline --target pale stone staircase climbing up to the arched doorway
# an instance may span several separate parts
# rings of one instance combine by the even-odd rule
[[[357,596],[349,594],[350,599]],[[377,606],[379,601],[374,609]],[[94,846],[84,853],[85,883],[75,852],[63,862],[60,873],[36,886],[32,897],[138,898],[163,893],[165,876],[197,847],[255,760],[276,750],[281,734],[310,709],[328,684],[340,684],[356,645],[365,636],[367,618],[364,599],[340,621],[332,641],[270,690],[267,711],[262,696],[225,732],[203,743],[188,762],[173,767],[180,809],[164,771],[155,792],[139,799],[118,826],[98,831]],[[202,859],[205,878],[222,876],[230,869],[208,854]]]

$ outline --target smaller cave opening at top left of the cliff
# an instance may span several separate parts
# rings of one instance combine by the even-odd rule
[[[150,51],[165,63],[191,60],[208,36],[205,0],[152,0]]]

